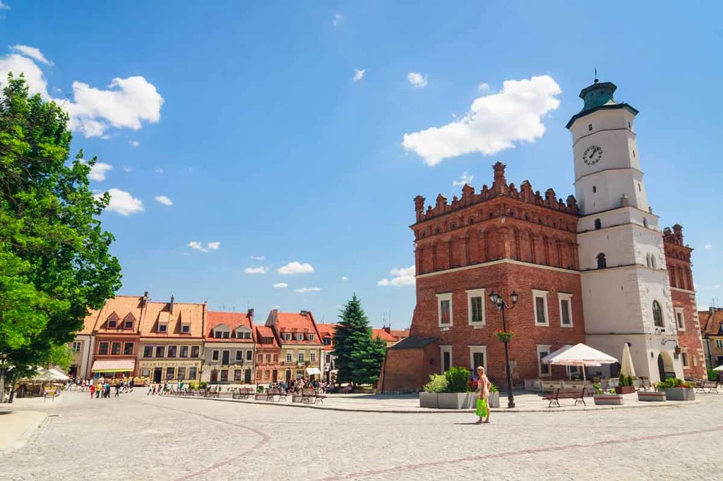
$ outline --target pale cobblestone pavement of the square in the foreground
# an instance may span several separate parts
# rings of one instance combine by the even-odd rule
[[[723,394],[653,409],[493,414],[304,410],[67,393],[9,480],[719,480]]]

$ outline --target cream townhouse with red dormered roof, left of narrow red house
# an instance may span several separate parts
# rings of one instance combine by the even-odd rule
[[[254,310],[207,315],[203,373],[210,384],[252,384],[254,372]]]

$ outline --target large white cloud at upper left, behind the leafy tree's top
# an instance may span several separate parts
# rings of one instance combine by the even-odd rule
[[[48,83],[35,61],[52,65],[38,48],[27,45],[10,47],[20,53],[8,53],[0,57],[0,87],[9,71],[14,75],[25,74],[31,95],[40,94],[44,100],[55,100],[70,116],[70,129],[89,137],[106,138],[108,129],[138,130],[143,123],[157,123],[161,119],[163,97],[155,85],[145,77],[116,77],[106,89],[90,87],[74,81],[72,98],[54,99],[48,94]],[[35,59],[35,61],[33,61]]]

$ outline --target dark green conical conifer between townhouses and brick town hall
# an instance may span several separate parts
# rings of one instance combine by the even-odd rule
[[[354,294],[344,306],[334,330],[336,374],[339,383],[375,384],[386,350],[385,342],[372,337],[369,319]]]

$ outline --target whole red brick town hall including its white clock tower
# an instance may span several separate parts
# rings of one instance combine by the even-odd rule
[[[540,360],[584,342],[620,359],[630,345],[637,376],[703,378],[692,249],[683,228],[661,228],[646,196],[635,118],[638,110],[613,98],[615,84],[580,92],[570,118],[575,196],[540,194],[529,181],[505,178],[497,162],[492,186],[466,185],[448,202],[414,199],[416,307],[410,336],[390,347],[379,387],[414,391],[453,365],[483,365],[505,385],[500,293],[506,312],[513,384],[562,378],[566,369]],[[617,376],[617,366],[587,369]]]

